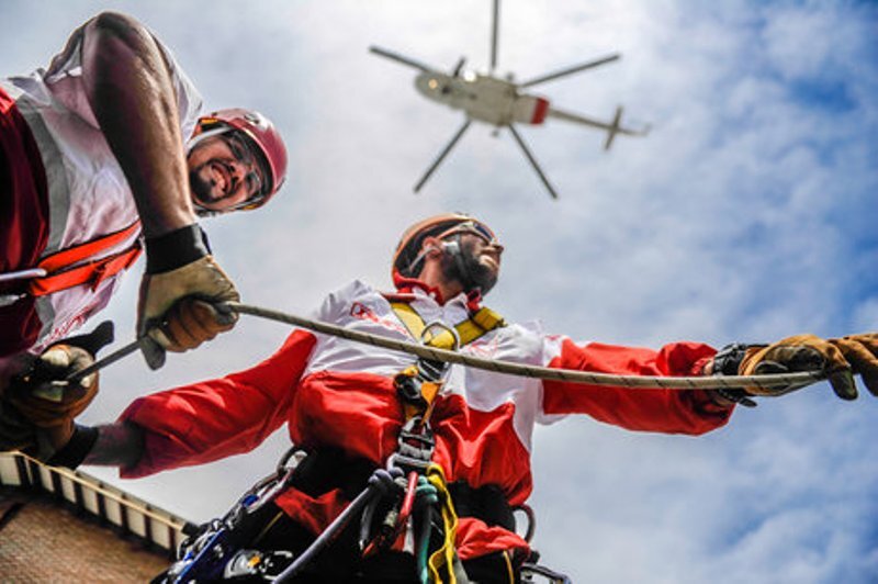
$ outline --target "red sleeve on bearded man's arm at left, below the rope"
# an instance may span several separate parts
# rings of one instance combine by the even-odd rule
[[[120,422],[146,430],[144,454],[120,474],[133,479],[248,452],[284,422],[316,339],[297,330],[258,366],[140,397]]]

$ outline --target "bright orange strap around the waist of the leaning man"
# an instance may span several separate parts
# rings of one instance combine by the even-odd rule
[[[27,292],[33,296],[44,296],[82,284],[89,284],[94,290],[106,278],[131,267],[143,249],[137,239],[116,254],[100,259],[90,258],[128,239],[139,229],[140,222],[135,221],[124,229],[43,258],[36,267],[48,273],[31,280]]]

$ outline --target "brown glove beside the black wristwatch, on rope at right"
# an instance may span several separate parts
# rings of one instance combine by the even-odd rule
[[[851,363],[842,350],[834,341],[814,335],[798,335],[773,345],[751,347],[739,366],[741,375],[801,371],[824,373],[835,394],[842,400],[855,400],[857,396]],[[750,386],[746,388],[746,392],[751,395],[783,395],[802,386],[778,389]]]

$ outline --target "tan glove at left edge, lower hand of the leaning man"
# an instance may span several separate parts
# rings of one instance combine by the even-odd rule
[[[16,412],[20,422],[35,430],[36,448],[27,445],[25,451],[45,461],[67,445],[74,420],[98,394],[98,373],[78,382],[64,380],[93,362],[92,355],[81,347],[53,345],[29,373],[12,382],[3,396],[4,409]]]

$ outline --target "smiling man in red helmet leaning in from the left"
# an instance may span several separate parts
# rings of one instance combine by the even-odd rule
[[[86,22],[48,69],[0,79],[0,392],[108,304],[142,247],[150,367],[230,329],[236,315],[205,301],[238,294],[198,216],[260,206],[285,172],[264,116],[205,115],[170,50],[123,14]]]

